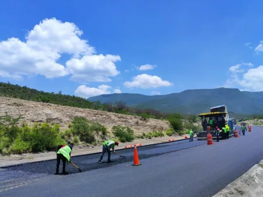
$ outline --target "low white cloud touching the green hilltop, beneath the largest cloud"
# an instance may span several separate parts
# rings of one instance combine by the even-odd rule
[[[89,98],[91,96],[98,96],[101,94],[112,94],[112,93],[121,93],[120,89],[114,89],[112,91],[112,87],[108,85],[100,85],[98,88],[91,88],[85,85],[79,86],[75,90],[75,94],[84,98]]]

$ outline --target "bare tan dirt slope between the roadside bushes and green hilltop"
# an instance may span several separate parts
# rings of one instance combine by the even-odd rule
[[[144,121],[141,117],[133,115],[0,97],[0,116],[5,115],[5,112],[11,116],[23,115],[24,121],[29,125],[34,122],[58,123],[62,129],[66,129],[75,116],[84,116],[91,122],[98,122],[109,131],[116,125],[128,126],[135,131],[135,134],[164,131],[169,127],[167,121],[156,119]]]

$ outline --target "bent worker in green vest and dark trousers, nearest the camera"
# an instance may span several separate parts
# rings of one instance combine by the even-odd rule
[[[59,168],[60,168],[60,160],[63,162],[63,169],[62,173],[63,174],[68,174],[66,171],[66,162],[67,164],[71,163],[70,161],[70,155],[71,151],[73,148],[73,144],[70,144],[69,146],[63,145],[58,147],[58,152],[57,152],[57,169],[55,171],[55,174],[59,174]]]

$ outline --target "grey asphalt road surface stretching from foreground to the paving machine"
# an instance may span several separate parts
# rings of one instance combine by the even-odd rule
[[[37,163],[4,168],[1,177],[20,172],[25,178],[37,176],[39,181],[2,189],[0,196],[212,196],[263,159],[262,137],[263,127],[253,127],[245,136],[214,142],[213,146],[195,141],[141,147],[141,166],[131,166],[130,150],[121,151],[126,159],[115,156],[116,162],[98,169],[88,167],[95,166],[98,155],[82,156],[78,162],[87,166],[85,172],[67,176],[51,175],[51,163],[39,163],[39,168]],[[0,178],[0,190],[3,182]]]

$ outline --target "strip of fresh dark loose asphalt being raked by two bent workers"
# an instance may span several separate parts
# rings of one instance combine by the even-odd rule
[[[137,147],[139,160],[147,159],[149,157],[159,156],[162,154],[175,152],[187,148],[193,148],[196,146],[200,146],[206,144],[206,141],[197,141],[189,142],[189,140],[167,143],[167,144],[159,144],[159,145],[151,145],[151,146],[144,146],[144,147]],[[110,166],[118,165],[127,163],[127,165],[132,165],[134,160],[134,149],[124,149],[117,151],[119,155],[115,155],[111,153],[111,160],[114,162],[107,163],[107,153],[104,154],[102,164],[98,164],[98,160],[100,157],[100,153],[98,154],[91,154],[91,155],[82,155],[82,156],[74,156],[71,157],[72,163],[76,164],[82,172],[100,169],[100,168],[107,168]],[[56,157],[54,153],[54,158]],[[143,161],[140,161],[143,163]],[[30,172],[30,173],[45,173],[45,174],[54,174],[56,168],[57,161],[43,161],[43,162],[35,162],[35,163],[26,163],[17,166],[6,167],[5,169],[8,171],[23,171],[23,172]],[[62,161],[60,164],[60,172],[62,171]],[[72,165],[66,165],[66,171],[69,173],[79,173],[79,170]]]

